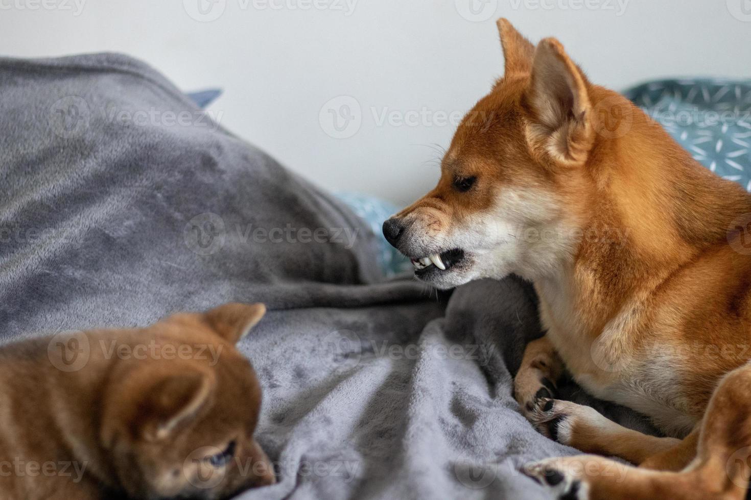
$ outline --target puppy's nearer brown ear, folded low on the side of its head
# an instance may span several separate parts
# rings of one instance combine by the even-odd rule
[[[187,364],[174,367],[142,367],[113,382],[104,404],[101,437],[106,448],[123,430],[134,439],[166,439],[208,409],[213,375]]]

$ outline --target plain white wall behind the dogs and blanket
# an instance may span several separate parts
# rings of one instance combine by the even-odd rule
[[[198,2],[218,18],[194,19],[202,17]],[[496,17],[532,40],[558,37],[590,79],[623,88],[659,76],[751,76],[749,7],[749,0],[0,0],[0,53],[120,51],[181,88],[222,86],[210,109],[225,127],[331,190],[406,203],[438,178],[435,145],[448,145],[455,127],[444,115],[465,112],[502,73]],[[338,96],[348,97],[327,104]],[[329,109],[343,113],[344,105],[354,117],[345,135],[358,121],[360,128],[336,139]],[[416,123],[379,123],[384,112]]]

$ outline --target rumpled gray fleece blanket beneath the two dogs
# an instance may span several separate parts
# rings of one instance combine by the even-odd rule
[[[262,301],[241,349],[279,483],[243,499],[545,498],[518,467],[575,451],[511,397],[541,334],[529,284],[436,296],[382,281],[374,252],[348,209],[145,64],[0,59],[3,343]]]

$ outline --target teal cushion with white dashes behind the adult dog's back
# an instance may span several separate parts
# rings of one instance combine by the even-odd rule
[[[624,94],[696,160],[751,190],[751,80],[659,80]]]

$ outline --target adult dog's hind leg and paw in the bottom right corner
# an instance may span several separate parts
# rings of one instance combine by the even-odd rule
[[[751,364],[722,379],[695,434],[698,437],[686,438],[686,451],[692,441],[697,443],[696,456],[679,472],[625,466],[595,455],[542,460],[525,466],[523,472],[559,499],[743,500],[751,477],[749,387]],[[653,463],[657,465],[657,460]]]

